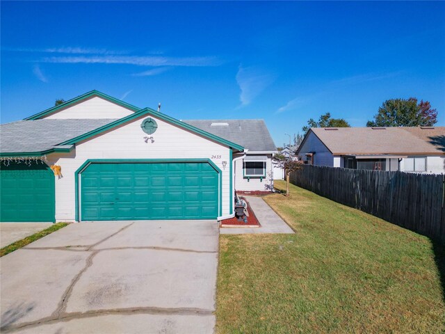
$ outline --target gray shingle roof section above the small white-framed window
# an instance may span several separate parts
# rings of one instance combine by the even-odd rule
[[[182,122],[242,145],[250,151],[277,151],[264,120],[182,120]]]

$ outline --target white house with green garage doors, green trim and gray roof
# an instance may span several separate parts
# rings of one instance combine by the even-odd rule
[[[275,150],[262,120],[181,122],[93,90],[1,125],[0,221],[223,219],[235,189],[272,184]]]

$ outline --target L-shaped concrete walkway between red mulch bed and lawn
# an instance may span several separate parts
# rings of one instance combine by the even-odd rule
[[[243,197],[249,202],[261,228],[220,228],[220,234],[294,233],[261,197]]]

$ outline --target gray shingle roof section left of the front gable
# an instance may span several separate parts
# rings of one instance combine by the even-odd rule
[[[112,119],[20,120],[0,125],[0,152],[42,152],[113,122]]]

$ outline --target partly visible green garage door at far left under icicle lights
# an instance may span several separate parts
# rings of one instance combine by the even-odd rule
[[[46,164],[0,164],[0,221],[54,221],[54,173]]]

